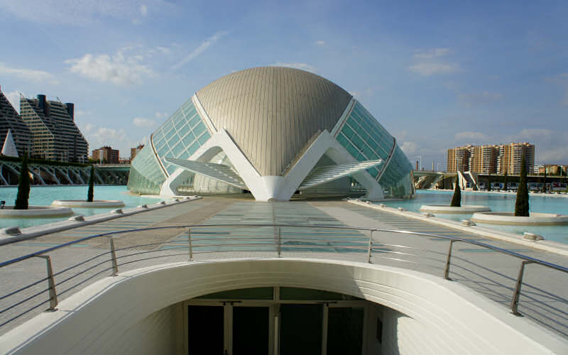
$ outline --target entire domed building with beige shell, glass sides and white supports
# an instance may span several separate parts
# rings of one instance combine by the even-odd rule
[[[132,161],[131,192],[163,197],[251,192],[413,194],[396,139],[341,87],[311,72],[256,67],[207,85]]]

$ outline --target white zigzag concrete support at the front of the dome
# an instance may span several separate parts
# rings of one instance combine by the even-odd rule
[[[293,168],[284,176],[261,176],[249,162],[243,152],[236,146],[229,133],[224,129],[218,131],[190,160],[207,162],[219,151],[223,151],[256,200],[259,201],[288,201],[300,187],[322,155],[327,154],[337,164],[352,163],[357,160],[328,131],[323,131],[307,148]],[[179,173],[181,174],[181,173]],[[356,173],[353,177],[367,190],[366,197],[372,200],[383,198],[383,189],[378,182],[366,171]],[[160,195],[170,196],[175,192],[175,183],[179,175],[168,179],[162,185]]]

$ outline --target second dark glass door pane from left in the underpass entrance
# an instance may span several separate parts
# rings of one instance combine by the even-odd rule
[[[268,307],[233,307],[233,355],[266,355]]]

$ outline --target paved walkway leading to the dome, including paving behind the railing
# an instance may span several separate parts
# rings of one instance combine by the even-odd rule
[[[10,244],[0,248],[0,260],[21,256],[49,246],[80,239],[107,231],[180,226],[187,224],[303,224],[322,226],[355,226],[381,229],[404,229],[447,236],[476,239],[506,249],[513,249],[535,258],[568,266],[567,258],[542,251],[533,251],[501,241],[482,239],[461,231],[436,226],[427,222],[381,212],[347,202],[254,202],[252,200],[207,197],[203,200],[143,212],[91,226],[84,226],[58,234]],[[280,229],[284,256],[332,258],[366,261],[368,233],[338,229]],[[273,227],[215,227],[192,228],[192,246],[195,260],[227,257],[274,257],[277,255],[278,229]],[[253,238],[251,240],[251,238]],[[348,238],[348,239],[347,239]],[[226,245],[226,240],[231,245]],[[300,240],[301,239],[301,240]],[[373,263],[410,268],[442,277],[448,242],[429,237],[405,234],[377,233],[373,248]],[[221,246],[220,244],[225,244]],[[140,246],[144,244],[144,246]],[[248,245],[244,245],[248,244]],[[254,245],[251,245],[254,244]],[[160,229],[115,236],[119,257],[119,271],[142,266],[188,259],[187,229]],[[136,247],[135,247],[136,246]],[[345,247],[359,247],[347,250]],[[350,252],[349,252],[350,251]],[[111,273],[109,241],[107,238],[75,244],[75,246],[49,253],[53,261],[55,280],[60,300],[86,285]],[[71,268],[82,263],[77,268]],[[452,282],[459,282],[486,295],[503,307],[509,307],[510,297],[520,261],[494,251],[486,251],[468,244],[454,244]],[[81,271],[80,275],[77,272]],[[21,305],[0,314],[0,323],[19,315],[23,310],[47,300],[45,261],[33,258],[0,269],[0,310],[22,302]],[[537,265],[525,269],[525,284],[520,297],[519,310],[528,319],[545,325],[558,334],[568,337],[568,275]],[[17,295],[3,297],[13,290],[38,281],[37,285]],[[27,297],[40,293],[25,301]],[[559,296],[560,295],[560,296]],[[41,303],[31,312],[0,327],[0,334],[37,315],[48,307]]]

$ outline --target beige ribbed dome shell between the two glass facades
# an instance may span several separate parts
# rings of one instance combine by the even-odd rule
[[[332,131],[351,95],[319,75],[256,67],[226,75],[197,98],[263,176],[282,175],[317,131]]]

